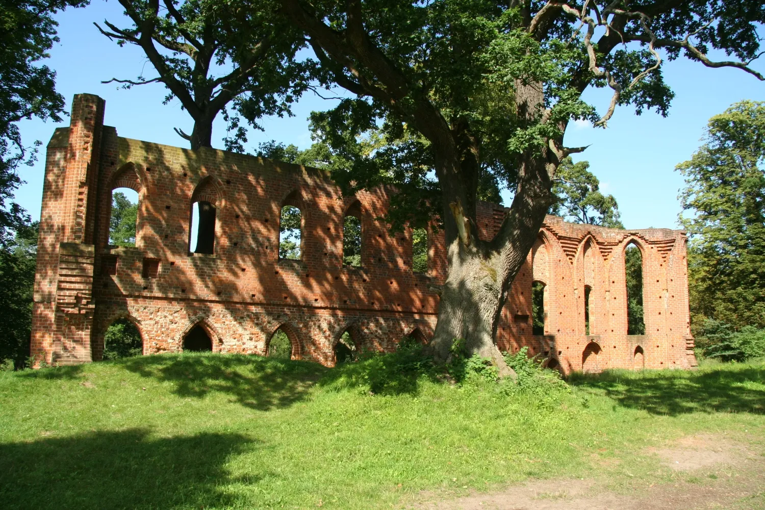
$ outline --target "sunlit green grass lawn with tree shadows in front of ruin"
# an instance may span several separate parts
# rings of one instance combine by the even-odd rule
[[[402,508],[529,478],[668,482],[681,475],[646,448],[685,434],[765,451],[763,362],[528,390],[385,364],[182,354],[0,372],[0,507]]]

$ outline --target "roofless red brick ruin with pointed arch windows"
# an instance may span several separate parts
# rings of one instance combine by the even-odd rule
[[[57,128],[47,145],[31,339],[37,359],[99,360],[106,329],[121,318],[137,326],[145,355],[179,352],[190,334],[209,337],[216,352],[265,355],[281,329],[293,358],[333,365],[346,332],[357,349],[382,351],[404,336],[431,337],[444,238],[428,232],[428,270],[412,271],[412,231],[393,235],[377,219],[386,190],[343,197],[314,168],[122,138],[103,125],[104,106],[98,96],[75,96],[70,127]],[[135,248],[109,245],[119,187],[138,192]],[[197,251],[204,237],[212,253],[190,252],[193,203],[211,207]],[[301,210],[300,260],[278,256],[285,205]],[[505,211],[480,203],[480,236],[493,236]],[[349,213],[362,226],[358,268],[343,265]],[[645,335],[627,334],[630,244],[643,255]],[[543,332],[532,328],[535,281],[545,285]],[[528,346],[567,373],[694,366],[685,233],[547,216],[496,341],[513,352]]]

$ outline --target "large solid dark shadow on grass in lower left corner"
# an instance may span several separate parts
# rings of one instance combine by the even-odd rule
[[[145,429],[0,444],[2,508],[229,508],[225,464],[239,434],[148,436]],[[251,480],[252,481],[252,480]]]

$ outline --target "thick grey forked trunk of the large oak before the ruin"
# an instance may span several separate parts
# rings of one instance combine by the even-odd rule
[[[531,119],[536,110],[529,106],[541,105],[541,97],[540,87],[519,86],[516,90],[519,113]],[[478,239],[474,210],[465,211],[464,218],[461,207],[452,208],[454,214],[448,215],[449,220],[454,219],[459,232],[456,239],[447,237],[448,274],[441,289],[438,323],[431,342],[437,362],[449,359],[454,339],[464,339],[468,354],[492,359],[500,373],[509,372],[495,343],[496,327],[509,287],[552,204],[552,176],[558,162],[559,154],[550,147],[529,148],[521,155],[513,205],[500,232],[490,241]],[[443,180],[441,184],[444,185]],[[448,234],[450,229],[446,230]]]

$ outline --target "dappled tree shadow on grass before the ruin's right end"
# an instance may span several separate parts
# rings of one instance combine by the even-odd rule
[[[609,370],[602,374],[572,374],[568,382],[604,391],[623,407],[651,414],[765,414],[765,365],[721,365],[695,372]]]

